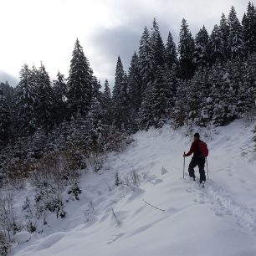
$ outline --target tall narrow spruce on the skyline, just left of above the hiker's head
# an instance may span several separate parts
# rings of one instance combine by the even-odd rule
[[[180,76],[182,79],[190,79],[192,77],[194,72],[194,65],[192,63],[194,49],[195,45],[192,33],[188,29],[187,21],[183,18],[178,45],[178,52],[180,54]]]

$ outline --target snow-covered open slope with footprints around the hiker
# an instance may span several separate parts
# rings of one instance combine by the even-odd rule
[[[169,126],[136,134],[104,168],[84,175],[67,218],[17,243],[12,256],[255,256],[256,156],[241,121],[202,132],[210,149],[206,187],[182,179],[192,138]],[[139,186],[115,187],[115,172]],[[196,172],[198,178],[198,171]],[[132,183],[132,182],[131,182]],[[114,215],[115,214],[115,215]]]

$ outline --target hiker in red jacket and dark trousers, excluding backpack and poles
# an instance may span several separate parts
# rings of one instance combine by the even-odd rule
[[[201,142],[202,141],[200,140],[199,133],[195,133],[192,146],[187,154],[184,152],[183,157],[191,156],[193,154],[192,160],[188,166],[189,177],[192,177],[194,181],[196,180],[194,168],[198,166],[200,173],[200,183],[204,183],[206,181],[204,172],[205,157],[203,156],[202,149],[200,147]]]

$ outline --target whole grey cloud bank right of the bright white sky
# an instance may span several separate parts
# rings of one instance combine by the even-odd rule
[[[118,13],[120,23],[115,28],[99,28],[90,38],[84,40],[94,49],[90,59],[95,73],[101,80],[108,78],[114,83],[115,64],[120,55],[124,68],[128,71],[131,56],[138,49],[143,28],[151,28],[153,18],[159,24],[161,35],[166,42],[168,31],[171,31],[175,43],[178,43],[178,34],[182,18],[187,19],[193,36],[205,25],[208,33],[212,32],[214,24],[219,23],[222,13],[228,17],[232,5],[238,11],[241,19],[246,11],[247,0],[207,0],[180,1],[139,1],[135,7],[134,1],[110,1],[113,12]],[[154,6],[152,6],[152,3]],[[210,7],[210,9],[209,9]],[[89,41],[88,41],[89,40]]]

